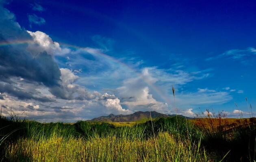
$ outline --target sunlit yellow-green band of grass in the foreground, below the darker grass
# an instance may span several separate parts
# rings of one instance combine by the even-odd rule
[[[52,137],[35,141],[22,138],[6,146],[5,156],[10,162],[209,161],[204,152],[199,151],[198,145],[190,145],[190,141],[176,139],[169,133],[159,133],[156,139],[152,137],[136,140],[115,136],[94,137],[89,140]]]

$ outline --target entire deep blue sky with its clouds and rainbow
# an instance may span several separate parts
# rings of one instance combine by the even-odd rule
[[[251,0],[0,0],[2,115],[254,116],[255,8]]]

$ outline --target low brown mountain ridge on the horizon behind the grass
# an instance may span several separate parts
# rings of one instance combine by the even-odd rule
[[[172,115],[166,115],[166,114],[161,114],[158,112],[151,112],[152,118],[157,118],[157,117],[173,117],[176,116],[175,114]],[[178,115],[180,117],[184,117],[182,115]],[[192,119],[189,117],[186,117],[187,119]],[[98,118],[93,118],[92,120],[87,120],[91,122],[133,122],[133,121],[138,121],[138,120],[149,120],[150,119],[150,112],[135,112],[133,114],[128,114],[128,115],[114,115],[110,114],[108,116],[100,116]]]

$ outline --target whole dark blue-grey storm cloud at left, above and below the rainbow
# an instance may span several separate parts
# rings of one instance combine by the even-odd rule
[[[46,86],[58,86],[61,73],[52,56],[46,51],[33,55],[27,49],[29,43],[12,44],[21,40],[29,42],[33,38],[15,22],[12,13],[4,8],[0,8],[0,12],[0,41],[10,44],[0,47],[0,80],[21,77]]]

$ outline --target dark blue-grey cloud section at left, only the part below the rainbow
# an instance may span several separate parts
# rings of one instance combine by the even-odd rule
[[[31,55],[26,48],[0,48],[0,72],[2,79],[21,77],[41,82],[46,86],[59,86],[60,71],[53,58],[46,52]],[[0,79],[1,80],[1,79]]]

